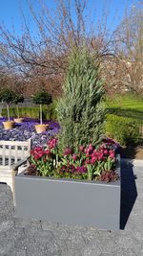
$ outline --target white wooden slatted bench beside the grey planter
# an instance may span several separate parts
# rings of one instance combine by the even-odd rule
[[[27,141],[0,141],[0,182],[10,186],[15,205],[14,175],[18,167],[31,155],[31,139]]]

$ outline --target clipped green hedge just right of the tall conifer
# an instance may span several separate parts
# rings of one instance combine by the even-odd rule
[[[133,118],[108,115],[106,133],[123,146],[136,145],[139,141],[139,127]]]

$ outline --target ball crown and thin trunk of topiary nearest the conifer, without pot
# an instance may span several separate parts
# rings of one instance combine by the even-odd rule
[[[32,96],[32,102],[36,105],[40,105],[40,124],[42,125],[42,105],[51,104],[51,94],[46,91],[37,92]]]

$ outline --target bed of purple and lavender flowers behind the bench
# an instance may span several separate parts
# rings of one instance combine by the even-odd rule
[[[50,128],[46,132],[37,134],[34,125],[38,124],[39,121],[31,118],[25,118],[24,122],[21,124],[16,124],[15,128],[6,130],[3,128],[2,122],[7,121],[6,118],[0,118],[0,140],[9,141],[25,141],[32,138],[32,147],[44,146],[47,144],[48,140],[55,136],[60,129],[58,123],[53,121],[44,122],[48,124]]]

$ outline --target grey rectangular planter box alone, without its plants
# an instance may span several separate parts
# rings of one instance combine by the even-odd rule
[[[120,175],[120,165],[116,172]],[[120,180],[112,183],[15,176],[16,217],[116,230]]]

